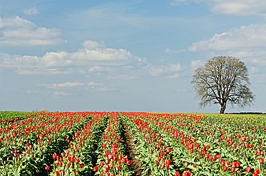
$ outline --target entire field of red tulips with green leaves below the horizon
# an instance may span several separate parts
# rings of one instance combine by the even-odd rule
[[[266,175],[265,128],[265,115],[0,112],[0,174]]]

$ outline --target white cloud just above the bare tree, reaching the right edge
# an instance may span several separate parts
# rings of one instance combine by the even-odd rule
[[[256,66],[266,65],[266,24],[251,24],[215,34],[209,40],[192,43],[189,51],[208,56],[234,56]]]

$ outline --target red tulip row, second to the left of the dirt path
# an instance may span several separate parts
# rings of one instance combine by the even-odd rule
[[[94,175],[95,150],[109,116],[105,113],[95,115],[85,126],[77,128],[72,138],[66,138],[68,148],[61,154],[52,155],[54,162],[50,175]]]

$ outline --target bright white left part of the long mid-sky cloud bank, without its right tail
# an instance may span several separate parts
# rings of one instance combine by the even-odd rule
[[[92,65],[88,71],[114,71],[116,68],[107,66],[136,66],[147,62],[146,58],[140,58],[132,55],[125,49],[114,48],[83,48],[77,52],[46,52],[43,56],[20,56],[0,53],[0,67],[9,69],[20,69],[20,73],[36,73],[50,70],[65,71],[60,68],[80,67],[76,70],[80,72],[85,66]],[[56,68],[55,68],[56,67]],[[125,68],[124,67],[124,68]],[[126,68],[125,68],[126,69]],[[24,70],[23,72],[21,70]],[[28,72],[26,72],[28,70]],[[74,70],[74,69],[73,69]],[[73,71],[68,70],[68,71]],[[84,73],[84,69],[82,71]]]

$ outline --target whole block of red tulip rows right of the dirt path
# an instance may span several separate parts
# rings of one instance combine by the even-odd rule
[[[247,122],[242,122],[239,117],[228,120],[196,114],[124,113],[123,115],[127,125],[135,132],[136,140],[143,141],[138,146],[141,155],[139,159],[144,163],[143,166],[149,167],[155,160],[155,166],[150,170],[144,168],[144,171],[147,171],[145,174],[158,175],[163,172],[165,175],[179,175],[179,173],[190,175],[198,172],[200,174],[209,172],[212,175],[220,175],[222,172],[245,174],[250,159],[255,168],[249,172],[256,175],[259,170],[263,171],[264,151],[261,148],[264,147],[261,135],[264,136],[265,128],[262,124],[249,125]],[[163,156],[164,152],[161,152],[163,150],[161,146],[172,150],[167,159]],[[147,160],[145,158],[148,152],[150,156]],[[171,160],[170,166],[166,165],[167,160]]]

